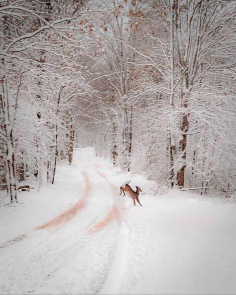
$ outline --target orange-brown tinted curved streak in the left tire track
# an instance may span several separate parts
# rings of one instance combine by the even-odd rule
[[[35,229],[44,229],[47,227],[57,226],[62,223],[65,223],[65,222],[71,220],[81,209],[83,209],[87,205],[88,198],[89,198],[89,191],[91,190],[91,183],[90,183],[88,175],[84,171],[82,172],[82,174],[85,178],[86,191],[85,191],[84,195],[82,196],[82,198],[80,199],[80,201],[78,201],[74,206],[72,206],[68,210],[64,211],[60,215],[56,216],[55,218],[53,218],[49,222],[44,223],[44,224],[36,227]]]

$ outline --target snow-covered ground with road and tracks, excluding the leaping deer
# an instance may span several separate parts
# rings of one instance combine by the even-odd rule
[[[236,204],[132,179],[92,148],[55,185],[0,203],[0,294],[236,294]]]

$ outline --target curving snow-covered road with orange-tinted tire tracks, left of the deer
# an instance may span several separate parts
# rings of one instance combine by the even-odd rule
[[[97,171],[99,164],[88,160],[84,167],[89,170],[81,171],[83,193],[73,206],[0,245],[7,257],[1,264],[1,294],[92,294],[103,286],[117,248],[123,199]]]

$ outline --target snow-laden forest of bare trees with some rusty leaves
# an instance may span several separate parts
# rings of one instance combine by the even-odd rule
[[[0,189],[53,184],[77,147],[233,198],[235,0],[1,0]]]

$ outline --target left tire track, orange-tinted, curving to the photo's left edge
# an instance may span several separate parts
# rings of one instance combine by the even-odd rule
[[[70,221],[72,218],[74,218],[75,215],[77,215],[79,213],[79,211],[81,211],[82,209],[84,209],[87,206],[88,199],[89,199],[89,193],[91,191],[92,185],[91,185],[91,181],[85,171],[82,172],[82,175],[85,179],[86,187],[85,187],[85,192],[84,192],[83,196],[80,198],[80,200],[77,203],[75,203],[72,207],[70,207],[69,209],[64,211],[63,213],[61,213],[58,216],[51,219],[49,222],[33,228],[32,231],[33,230],[41,230],[41,229],[45,229],[45,228],[49,228],[49,227],[62,226],[64,223],[66,223],[67,221]],[[26,237],[28,237],[29,234],[30,234],[30,232],[27,232],[27,233],[24,233],[14,239],[6,241],[6,242],[0,244],[0,248],[5,248],[5,247],[10,246],[16,242],[19,242],[19,241],[25,239]]]

